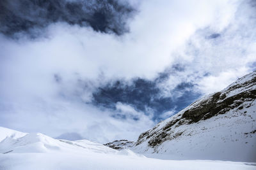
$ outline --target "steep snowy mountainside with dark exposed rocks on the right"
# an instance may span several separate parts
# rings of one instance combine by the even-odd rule
[[[256,71],[143,132],[133,150],[165,159],[256,162],[255,99]]]

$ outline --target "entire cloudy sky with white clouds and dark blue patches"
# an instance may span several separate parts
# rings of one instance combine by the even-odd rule
[[[0,126],[107,143],[256,69],[256,1],[3,0]]]

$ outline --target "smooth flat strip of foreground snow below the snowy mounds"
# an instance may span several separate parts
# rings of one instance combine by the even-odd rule
[[[255,169],[239,162],[160,160],[100,153],[10,153],[0,157],[0,169]]]

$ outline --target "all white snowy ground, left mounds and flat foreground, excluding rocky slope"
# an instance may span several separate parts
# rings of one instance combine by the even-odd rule
[[[15,135],[13,135],[15,134]],[[0,127],[0,169],[255,169],[253,163],[161,160],[88,140],[67,141]]]

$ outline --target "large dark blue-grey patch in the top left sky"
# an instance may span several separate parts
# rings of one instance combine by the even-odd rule
[[[94,31],[124,34],[134,8],[116,0],[1,0],[0,31],[6,36],[25,32],[31,37],[56,22],[92,27]]]

